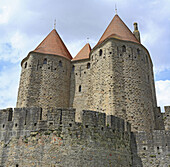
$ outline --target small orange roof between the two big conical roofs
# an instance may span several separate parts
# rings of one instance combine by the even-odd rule
[[[90,47],[90,44],[87,43],[87,44],[80,50],[80,52],[72,59],[72,61],[74,61],[74,60],[88,59],[90,52],[91,52],[91,47]]]

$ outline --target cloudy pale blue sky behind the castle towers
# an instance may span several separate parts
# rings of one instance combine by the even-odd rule
[[[115,15],[133,31],[153,65],[158,106],[170,105],[170,0],[0,0],[0,109],[15,107],[20,62],[54,28],[74,57],[92,47]],[[89,38],[89,39],[88,39]]]

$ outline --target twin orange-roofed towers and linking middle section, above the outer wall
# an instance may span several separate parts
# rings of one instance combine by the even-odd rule
[[[137,23],[133,34],[115,15],[97,45],[86,44],[73,59],[54,29],[21,65],[17,107],[71,107],[80,122],[83,109],[100,111],[133,131],[156,127],[153,65]]]

